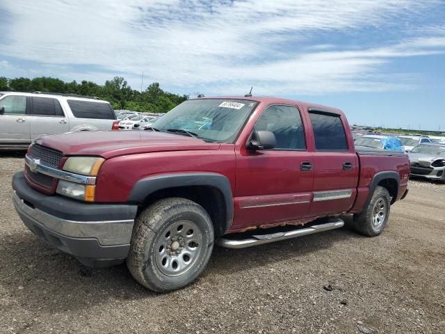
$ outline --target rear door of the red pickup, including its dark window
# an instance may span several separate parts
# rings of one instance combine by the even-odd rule
[[[349,147],[341,115],[309,108],[314,132],[314,193],[309,209],[311,216],[346,212],[357,193],[358,157]],[[353,146],[353,145],[351,145]]]

